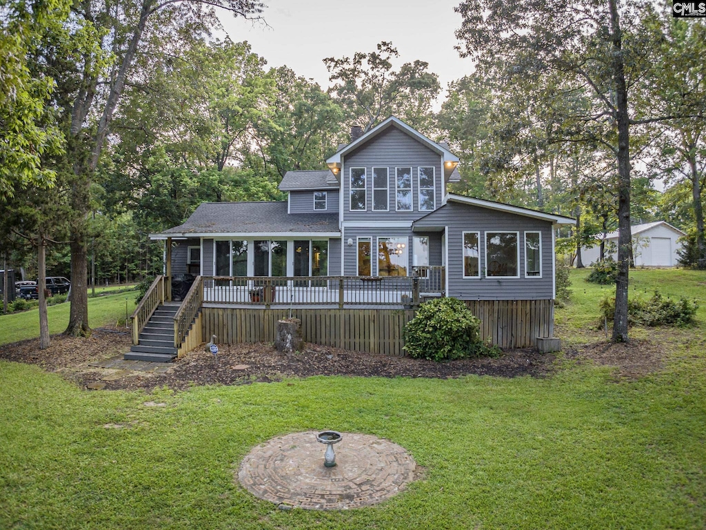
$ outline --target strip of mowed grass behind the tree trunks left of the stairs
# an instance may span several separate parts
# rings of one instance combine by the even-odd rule
[[[135,293],[120,293],[96,298],[88,298],[88,322],[91,327],[115,325],[125,321],[135,310]],[[68,326],[70,304],[47,307],[49,334],[61,333]],[[0,345],[40,336],[40,312],[38,309],[20,313],[0,315]]]

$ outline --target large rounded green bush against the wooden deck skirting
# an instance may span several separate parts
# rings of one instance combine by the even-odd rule
[[[480,340],[480,322],[461,300],[430,300],[405,325],[405,351],[436,361],[498,355]]]

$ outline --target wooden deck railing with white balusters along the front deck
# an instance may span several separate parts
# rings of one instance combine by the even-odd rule
[[[440,270],[442,269],[442,270]],[[237,305],[411,307],[443,292],[443,267],[425,276],[204,276],[203,301]]]

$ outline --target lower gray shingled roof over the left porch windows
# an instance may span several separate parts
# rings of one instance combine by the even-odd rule
[[[268,237],[316,234],[340,236],[337,213],[287,213],[287,201],[205,202],[184,224],[169,228],[151,239],[166,237]]]

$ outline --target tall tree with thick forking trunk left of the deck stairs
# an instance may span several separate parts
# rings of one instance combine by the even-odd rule
[[[110,61],[102,68],[103,57],[77,57],[80,71],[73,86],[64,85],[68,124],[68,160],[72,161],[71,206],[71,314],[67,334],[86,335],[88,296],[88,213],[90,184],[110,132],[126,83],[136,81],[134,67],[139,54],[159,57],[169,54],[194,35],[208,34],[217,27],[214,8],[234,16],[257,16],[262,4],[253,0],[140,0],[105,2],[83,0],[73,4],[69,25],[92,27]]]

